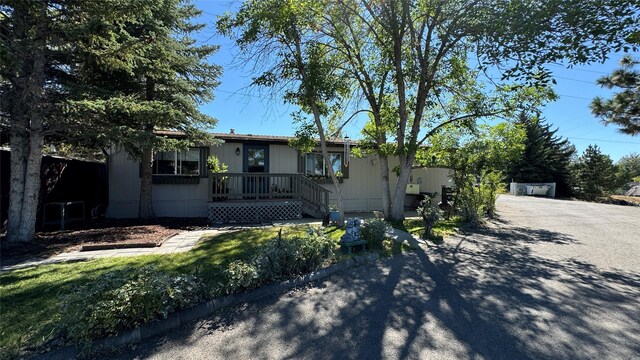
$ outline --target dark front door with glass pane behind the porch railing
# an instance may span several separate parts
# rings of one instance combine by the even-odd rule
[[[244,145],[244,158],[242,161],[245,173],[268,173],[269,172],[269,145]],[[267,194],[269,191],[269,180],[266,176],[250,176],[245,178],[243,184],[245,194],[249,197],[259,197],[259,194]]]

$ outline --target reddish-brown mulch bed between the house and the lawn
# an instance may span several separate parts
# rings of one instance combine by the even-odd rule
[[[158,218],[152,222],[136,219],[101,219],[69,224],[68,229],[36,233],[34,241],[10,244],[0,241],[2,265],[33,257],[80,250],[82,246],[98,248],[153,247],[181,231],[207,227],[205,218]]]

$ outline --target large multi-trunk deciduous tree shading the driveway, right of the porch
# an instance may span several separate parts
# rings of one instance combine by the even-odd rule
[[[447,124],[513,111],[516,89],[552,81],[544,64],[601,61],[638,28],[637,3],[622,0],[342,0],[328,7],[325,34],[369,102],[375,150],[381,163],[388,156],[400,163],[385,209],[393,220],[403,217],[411,168],[431,136]],[[470,58],[479,66],[470,66]],[[469,81],[488,68],[516,83]],[[503,102],[499,94],[511,96]],[[395,110],[389,123],[380,116],[385,104]],[[381,176],[384,197],[388,173]]]

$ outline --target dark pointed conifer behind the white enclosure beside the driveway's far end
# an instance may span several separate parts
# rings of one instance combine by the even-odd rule
[[[575,147],[556,135],[558,129],[537,117],[520,115],[519,123],[525,127],[527,139],[522,157],[509,164],[508,181],[555,182],[556,196],[571,195],[571,159]]]

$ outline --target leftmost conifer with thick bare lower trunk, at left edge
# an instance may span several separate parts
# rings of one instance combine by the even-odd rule
[[[34,237],[44,145],[85,125],[68,116],[69,102],[86,95],[75,76],[83,62],[80,38],[90,34],[92,44],[108,41],[92,30],[131,14],[131,9],[118,11],[122,9],[116,5],[126,3],[9,0],[0,4],[0,129],[9,133],[11,148],[7,226],[11,242]]]

